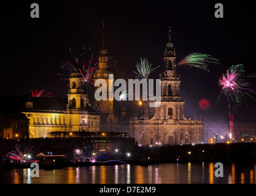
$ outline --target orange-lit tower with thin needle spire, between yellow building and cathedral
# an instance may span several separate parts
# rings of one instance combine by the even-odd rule
[[[112,72],[108,69],[108,61],[109,57],[107,56],[107,49],[104,45],[104,23],[103,23],[103,43],[102,47],[99,50],[99,66],[98,69],[95,71],[94,74],[94,82],[98,79],[103,79],[106,81],[106,88],[107,88],[107,100],[94,100],[94,109],[99,111],[101,113],[101,123],[107,123],[107,124],[113,124],[114,123],[114,111],[113,111],[113,100],[109,100],[109,89],[112,89],[112,85],[114,82],[114,78],[109,76],[112,74]],[[109,86],[111,85],[111,86]],[[95,86],[95,91],[98,89],[99,86]],[[103,126],[104,127],[104,126]],[[103,128],[103,129],[109,129],[109,128]]]

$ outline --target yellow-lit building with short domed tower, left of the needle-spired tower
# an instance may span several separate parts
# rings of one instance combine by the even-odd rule
[[[79,69],[79,68],[77,68]],[[21,111],[29,119],[29,137],[45,138],[58,133],[98,132],[100,115],[87,104],[87,94],[77,72],[69,77],[68,100],[56,97],[31,97]]]

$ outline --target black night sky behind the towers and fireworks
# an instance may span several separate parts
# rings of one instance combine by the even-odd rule
[[[39,18],[31,18],[30,5],[39,4]],[[215,18],[214,5],[221,2],[224,18]],[[193,52],[212,55],[221,65],[210,72],[178,66],[185,116],[202,115],[206,120],[227,120],[225,97],[219,78],[233,64],[245,64],[256,72],[256,17],[254,4],[246,1],[1,1],[0,94],[25,95],[45,89],[65,97],[67,82],[60,81],[61,62],[73,61],[83,46],[98,55],[105,22],[105,46],[115,78],[135,78],[136,62],[147,58],[161,65],[171,26],[176,62]],[[250,80],[256,89],[255,80]],[[198,108],[200,99],[211,101],[208,111]],[[235,121],[256,121],[256,102],[247,99]]]

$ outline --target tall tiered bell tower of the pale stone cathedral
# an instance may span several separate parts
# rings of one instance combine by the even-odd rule
[[[184,100],[180,97],[180,78],[176,74],[176,49],[171,41],[171,28],[168,29],[168,42],[163,54],[164,72],[161,79],[161,107],[158,119],[181,120],[184,118]]]

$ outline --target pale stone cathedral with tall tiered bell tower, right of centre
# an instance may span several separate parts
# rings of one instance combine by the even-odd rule
[[[121,121],[120,128],[135,138],[138,145],[179,145],[203,142],[203,121],[184,116],[185,101],[180,97],[180,77],[176,73],[176,50],[171,30],[164,50],[165,70],[160,74],[161,105],[150,108],[149,100],[142,101],[143,115]]]

